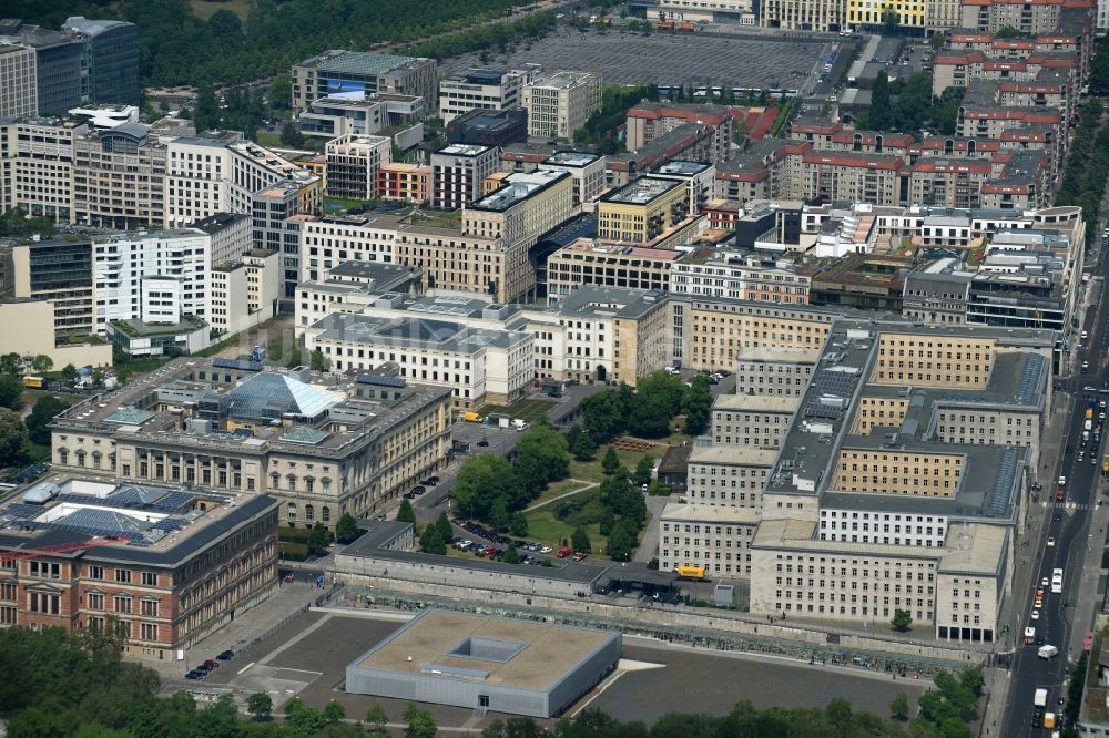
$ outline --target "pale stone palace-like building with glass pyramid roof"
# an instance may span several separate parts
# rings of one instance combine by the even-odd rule
[[[110,403],[94,396],[58,416],[52,461],[82,473],[99,463],[136,484],[268,494],[281,501],[282,525],[333,527],[445,463],[449,409],[449,390],[373,375],[326,383],[307,370],[181,360]]]

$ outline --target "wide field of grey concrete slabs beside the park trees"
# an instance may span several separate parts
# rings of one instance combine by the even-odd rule
[[[440,63],[445,74],[468,66],[522,69],[538,63],[546,69],[598,72],[611,84],[706,84],[744,88],[801,88],[816,60],[826,55],[832,41],[798,43],[796,39],[730,39],[696,33],[559,32],[513,53],[481,62],[464,54]]]

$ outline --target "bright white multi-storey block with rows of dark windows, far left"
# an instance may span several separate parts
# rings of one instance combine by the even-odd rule
[[[185,315],[207,319],[212,237],[197,228],[110,236],[93,242],[96,287],[94,330],[113,320],[177,322]],[[150,279],[173,278],[172,297],[144,290]],[[155,307],[156,306],[156,307]],[[151,316],[156,320],[147,320]]]

